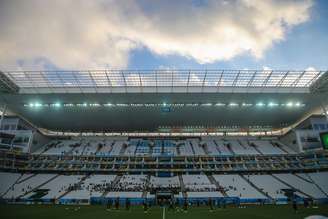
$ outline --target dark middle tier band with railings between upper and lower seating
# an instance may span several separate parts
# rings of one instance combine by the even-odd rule
[[[320,155],[320,156],[319,156]],[[322,162],[325,160],[326,162]],[[328,153],[297,155],[70,156],[2,151],[0,169],[35,172],[281,172],[328,169]]]

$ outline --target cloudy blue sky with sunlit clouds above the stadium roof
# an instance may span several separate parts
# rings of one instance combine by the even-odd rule
[[[328,69],[325,0],[0,0],[0,69]]]

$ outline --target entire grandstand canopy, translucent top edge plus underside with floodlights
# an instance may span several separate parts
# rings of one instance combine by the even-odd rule
[[[278,129],[320,106],[324,71],[158,70],[1,73],[8,108],[60,131]]]

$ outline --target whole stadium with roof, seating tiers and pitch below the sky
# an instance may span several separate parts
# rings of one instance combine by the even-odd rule
[[[2,71],[0,89],[5,218],[328,215],[327,71]]]

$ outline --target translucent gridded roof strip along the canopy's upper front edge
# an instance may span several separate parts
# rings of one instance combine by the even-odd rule
[[[309,88],[324,71],[279,70],[84,70],[12,71],[4,74],[20,93],[153,92],[178,88]],[[145,89],[146,88],[146,89]],[[147,90],[147,88],[153,88]],[[172,88],[158,90],[158,88]],[[214,88],[214,89],[213,89]]]

